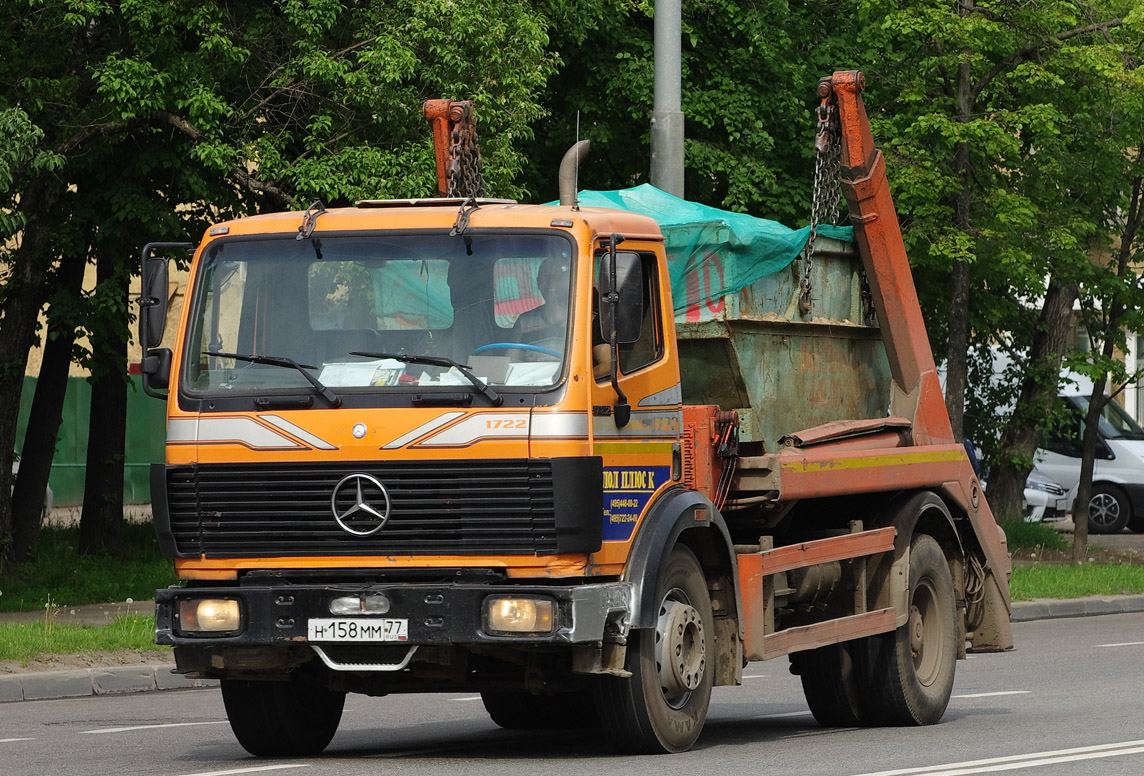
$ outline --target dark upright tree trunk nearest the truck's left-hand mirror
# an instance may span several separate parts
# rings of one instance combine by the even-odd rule
[[[127,425],[127,282],[124,262],[96,259],[104,318],[93,326],[92,418],[88,426],[79,552],[124,552],[124,461]]]

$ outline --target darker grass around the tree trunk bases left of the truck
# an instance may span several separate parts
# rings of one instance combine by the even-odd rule
[[[125,526],[124,557],[80,555],[79,528],[43,529],[32,560],[0,578],[0,611],[42,611],[110,601],[148,601],[175,583],[150,523]]]

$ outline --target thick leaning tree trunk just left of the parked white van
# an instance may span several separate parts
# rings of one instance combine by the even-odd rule
[[[1033,453],[1041,444],[1038,423],[1049,414],[1057,398],[1060,361],[1075,299],[1075,283],[1062,286],[1057,285],[1056,276],[1049,278],[1030,351],[1030,369],[1025,370],[1012,418],[1001,434],[998,464],[990,474],[990,507],[1000,520],[1020,515],[1025,480],[1033,469]]]

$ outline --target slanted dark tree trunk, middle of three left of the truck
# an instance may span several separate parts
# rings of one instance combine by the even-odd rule
[[[64,395],[67,391],[67,372],[71,369],[72,347],[76,345],[76,323],[70,315],[74,300],[84,287],[84,256],[64,258],[55,278],[55,294],[48,308],[48,335],[43,361],[35,382],[21,451],[19,476],[11,494],[14,555],[17,562],[27,559],[40,532],[43,492],[51,473],[56,452],[56,435],[63,420]]]

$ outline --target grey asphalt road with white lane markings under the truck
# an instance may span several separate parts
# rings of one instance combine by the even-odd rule
[[[779,659],[718,688],[697,747],[626,758],[598,733],[500,730],[475,695],[350,696],[327,752],[257,760],[235,742],[217,690],[0,706],[0,773],[231,774],[538,773],[1035,776],[1144,773],[1144,613],[1015,625],[1017,650],[958,664],[954,697],[928,728],[824,730]]]

